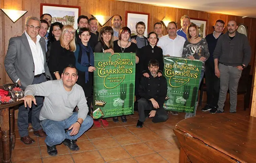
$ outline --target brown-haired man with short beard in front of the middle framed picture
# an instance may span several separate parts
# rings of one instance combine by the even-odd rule
[[[136,26],[137,35],[131,37],[131,41],[136,43],[138,48],[142,48],[143,46],[146,46],[149,44],[147,41],[147,38],[144,35],[146,25],[144,22],[139,21]]]

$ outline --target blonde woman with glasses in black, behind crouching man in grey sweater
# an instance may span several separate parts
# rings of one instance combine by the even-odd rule
[[[48,67],[53,79],[60,79],[62,71],[69,64],[75,65],[76,50],[75,29],[72,25],[64,25],[59,41],[55,41],[51,47]]]

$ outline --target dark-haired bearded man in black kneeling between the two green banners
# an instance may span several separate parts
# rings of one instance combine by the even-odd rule
[[[165,122],[168,115],[163,108],[167,94],[167,83],[163,76],[158,76],[159,62],[155,59],[149,61],[149,78],[142,77],[139,87],[138,100],[139,120],[136,127],[142,127],[146,117],[153,118],[152,122]],[[148,116],[149,115],[149,116]]]

